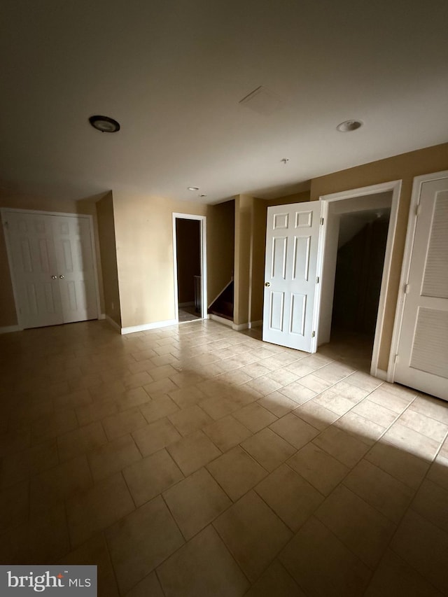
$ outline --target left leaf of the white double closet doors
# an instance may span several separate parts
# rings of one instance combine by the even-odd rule
[[[22,326],[63,323],[51,216],[10,212],[6,221]]]

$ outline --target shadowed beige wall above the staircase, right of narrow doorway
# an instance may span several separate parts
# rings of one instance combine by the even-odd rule
[[[228,285],[235,264],[235,200],[209,205],[207,210],[208,303]]]

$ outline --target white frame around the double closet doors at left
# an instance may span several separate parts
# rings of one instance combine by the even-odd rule
[[[6,253],[8,255],[8,265],[9,265],[9,273],[11,278],[11,284],[13,286],[13,297],[15,302],[15,313],[17,314],[17,321],[18,327],[14,328],[14,331],[22,331],[24,330],[23,326],[23,318],[20,314],[20,309],[18,307],[18,291],[15,284],[15,276],[14,276],[14,269],[13,269],[13,252],[10,248],[10,239],[8,234],[8,227],[4,225],[6,223],[6,218],[8,217],[8,213],[30,213],[31,215],[40,215],[40,216],[64,216],[64,217],[74,217],[74,218],[87,218],[89,222],[89,231],[90,231],[90,247],[92,249],[92,259],[93,259],[93,273],[95,279],[95,294],[97,300],[97,318],[102,319],[101,315],[101,304],[99,301],[99,283],[98,283],[98,270],[97,270],[97,252],[95,251],[95,242],[94,242],[94,234],[93,234],[93,216],[90,213],[66,213],[64,211],[41,211],[38,209],[15,209],[13,207],[1,207],[0,214],[1,220],[3,222],[3,230],[5,233],[5,244],[6,244]]]

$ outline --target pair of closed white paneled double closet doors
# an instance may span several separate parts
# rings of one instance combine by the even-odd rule
[[[90,218],[6,211],[3,220],[21,327],[97,318]]]

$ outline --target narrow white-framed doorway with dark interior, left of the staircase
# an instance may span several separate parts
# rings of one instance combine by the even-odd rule
[[[174,293],[179,323],[204,318],[204,216],[173,214]]]

